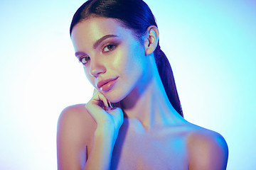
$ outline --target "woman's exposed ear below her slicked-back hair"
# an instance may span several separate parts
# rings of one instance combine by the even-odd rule
[[[156,50],[159,42],[159,30],[156,26],[149,26],[144,35],[145,55],[150,55]]]

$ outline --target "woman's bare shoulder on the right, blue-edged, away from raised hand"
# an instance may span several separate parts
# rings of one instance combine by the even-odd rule
[[[189,125],[186,144],[189,169],[225,169],[228,162],[228,145],[218,132]]]

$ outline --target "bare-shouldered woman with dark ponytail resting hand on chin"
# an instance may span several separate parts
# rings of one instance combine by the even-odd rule
[[[58,169],[225,169],[223,137],[183,119],[144,1],[86,1],[70,36],[95,91],[60,115]]]

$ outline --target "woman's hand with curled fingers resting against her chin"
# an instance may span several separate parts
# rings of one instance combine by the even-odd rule
[[[97,130],[101,132],[114,132],[114,137],[117,137],[119,128],[124,120],[121,108],[114,108],[112,103],[97,90],[94,91],[92,98],[85,108],[87,108],[87,111],[97,123]]]

